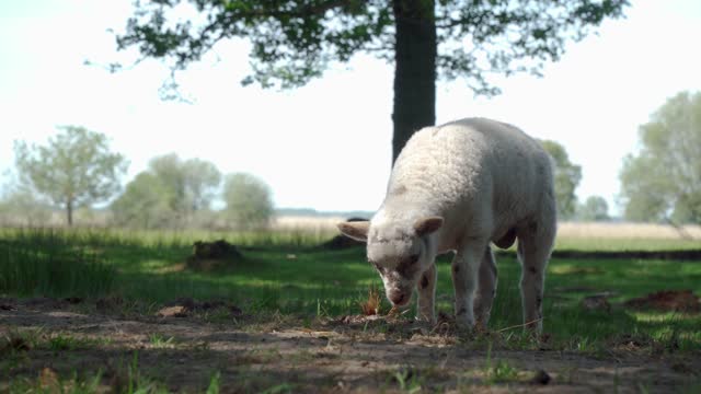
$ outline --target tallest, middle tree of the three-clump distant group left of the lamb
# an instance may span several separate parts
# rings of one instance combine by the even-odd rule
[[[182,219],[208,209],[221,183],[221,173],[212,163],[199,159],[183,161],[175,153],[152,159],[149,171],[169,190],[169,206]]]

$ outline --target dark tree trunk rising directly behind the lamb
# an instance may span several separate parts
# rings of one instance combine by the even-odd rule
[[[435,0],[392,1],[394,44],[394,107],[392,163],[409,138],[436,123]]]

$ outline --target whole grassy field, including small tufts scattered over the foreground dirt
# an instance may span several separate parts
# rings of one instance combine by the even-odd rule
[[[163,305],[183,298],[197,302],[226,300],[228,305],[234,305],[246,318],[231,320],[229,314],[220,313],[205,313],[198,317],[206,323],[225,324],[230,329],[243,332],[261,333],[275,327],[279,329],[280,322],[287,328],[319,331],[324,322],[360,314],[360,303],[368,299],[369,289],[381,289],[379,277],[365,263],[363,248],[330,251],[319,247],[332,235],[332,232],[324,229],[226,234],[4,230],[0,236],[0,297],[78,299],[80,301],[72,310],[84,314],[94,313],[95,302],[99,305],[100,300],[119,300],[117,313],[122,316],[152,316]],[[240,245],[244,259],[230,267],[206,273],[186,267],[185,260],[192,254],[194,241],[219,237]],[[560,239],[559,247],[671,250],[699,247],[699,243],[698,240],[665,237],[572,236]],[[675,354],[697,357],[701,354],[699,313],[637,310],[624,304],[627,300],[660,290],[692,290],[696,294],[701,293],[701,262],[553,258],[549,266],[543,306],[544,339],[533,339],[529,333],[514,328],[521,323],[518,290],[520,267],[509,252],[497,256],[497,265],[499,283],[489,332],[476,336],[474,333],[453,333],[452,337],[462,346],[476,348],[482,352],[491,351],[492,346],[499,351],[538,351],[544,347],[549,351],[575,351],[594,358],[609,357],[612,349],[625,346],[629,347],[627,351],[640,351],[647,356]],[[437,306],[449,315],[452,286],[448,256],[440,257],[438,270]],[[582,300],[585,297],[602,293],[610,308],[583,306]],[[380,314],[388,310],[388,302],[382,300]],[[410,324],[407,316],[411,314],[413,312],[405,314],[405,321],[397,324],[402,327]],[[271,328],[271,322],[275,323],[274,328]],[[18,337],[23,338],[20,341],[38,344],[28,346],[33,348],[28,351],[30,355],[47,349],[70,354],[74,348],[102,346],[100,341],[94,343],[97,340],[95,338],[76,339],[77,337],[68,334],[65,337],[37,334],[36,338],[43,339],[36,339],[32,336],[36,332],[30,329],[30,326],[2,325],[0,320],[0,327],[7,331],[3,333],[7,344],[0,345],[0,373],[12,378],[9,385],[0,383],[0,391],[26,392],[42,384],[43,370],[34,370],[30,367],[33,366],[30,361],[23,363],[18,358],[18,347],[8,345],[12,340],[19,340]],[[391,327],[391,323],[372,321],[365,322],[358,332],[370,329],[386,335],[392,333]],[[176,347],[169,343],[172,336],[158,337],[153,333],[148,335],[150,347]],[[397,335],[398,338],[407,338],[406,332],[401,329]],[[93,341],[85,345],[81,340]],[[331,344],[331,339],[329,343]],[[631,346],[634,349],[631,350]],[[133,349],[124,349],[124,352],[128,354],[129,350]],[[490,352],[487,358],[491,357],[489,355]],[[127,371],[130,368],[137,369],[136,364],[129,367],[128,363],[125,362]],[[495,366],[490,367],[490,373],[509,375],[509,368],[514,369],[509,366]],[[497,367],[502,368],[501,372]],[[69,371],[68,375],[56,379],[68,382],[77,391],[84,389],[90,392],[93,383],[94,387],[106,384],[104,376],[97,371],[93,372],[92,375],[71,380]],[[205,373],[198,387],[203,391],[218,389],[219,375],[211,371],[207,373],[209,374]],[[401,373],[390,379],[386,389],[391,389],[390,392],[394,389],[412,392],[410,376]],[[518,371],[514,373],[518,375]],[[698,387],[701,382],[698,373],[699,371],[688,373],[692,378],[690,387]],[[498,376],[492,378],[495,382],[498,381]],[[459,387],[459,379],[456,379],[458,383],[453,386]],[[481,379],[478,385],[491,382],[489,376]],[[170,378],[163,380],[169,382]],[[428,379],[424,382],[423,387],[430,387],[430,381]],[[141,384],[141,389],[149,392],[158,386],[143,382],[146,381],[135,380],[131,386],[127,384],[116,391],[137,392]],[[289,387],[274,386],[271,382],[256,384],[245,387],[255,387],[254,391],[264,391],[266,386],[277,387],[271,392],[295,392],[295,387],[303,387],[294,384]],[[78,390],[79,387],[83,389]]]

